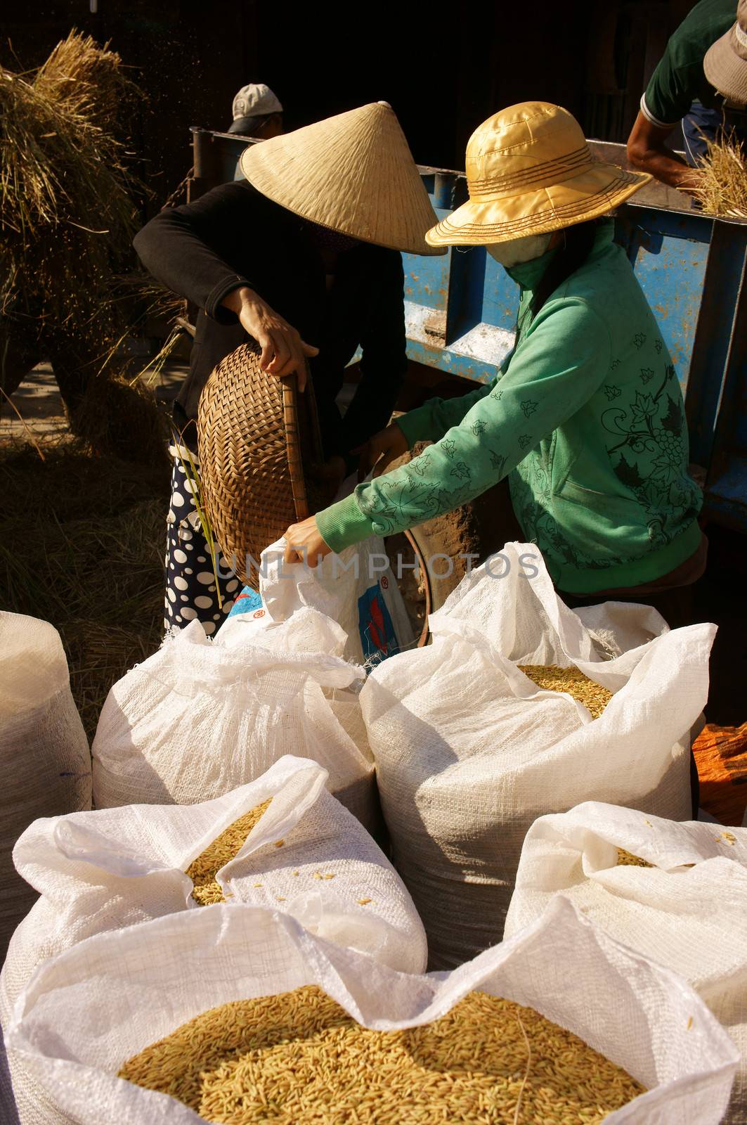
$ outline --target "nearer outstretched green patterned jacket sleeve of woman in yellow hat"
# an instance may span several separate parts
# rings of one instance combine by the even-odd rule
[[[548,302],[503,379],[483,390],[440,441],[317,513],[325,543],[341,551],[480,495],[588,402],[609,363],[610,336],[598,315],[580,298]]]

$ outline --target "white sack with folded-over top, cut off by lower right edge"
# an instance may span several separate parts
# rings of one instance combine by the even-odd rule
[[[619,847],[652,866],[616,866]],[[724,1120],[746,1125],[747,831],[579,804],[526,834],[506,936],[559,891],[608,934],[680,973],[718,1016],[741,1054]]]

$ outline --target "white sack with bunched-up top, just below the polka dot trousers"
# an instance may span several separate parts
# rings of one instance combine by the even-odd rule
[[[339,655],[344,640],[312,609],[232,648],[191,622],[109,692],[93,740],[93,803],[195,804],[292,754],[323,765],[330,790],[375,824],[372,762],[324,696],[363,676]]]

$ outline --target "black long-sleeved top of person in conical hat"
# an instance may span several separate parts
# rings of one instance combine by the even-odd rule
[[[327,292],[308,224],[245,181],[162,210],[134,245],[159,281],[200,309],[189,376],[177,398],[179,421],[197,417],[213,368],[248,339],[220,303],[249,286],[320,349],[309,367],[326,456],[348,454],[387,424],[407,366],[396,251],[361,243],[340,254]],[[358,346],[361,381],[342,418],[334,400]]]

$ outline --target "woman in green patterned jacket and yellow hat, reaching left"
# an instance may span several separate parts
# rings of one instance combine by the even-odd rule
[[[426,238],[485,245],[507,269],[521,290],[514,349],[490,385],[431,399],[375,435],[363,458],[375,478],[290,526],[287,561],[315,566],[508,476],[522,532],[572,604],[700,577],[682,392],[604,217],[649,179],[594,161],[558,106],[525,102],[480,125],[467,147],[469,201]],[[433,444],[386,472],[422,441]]]

